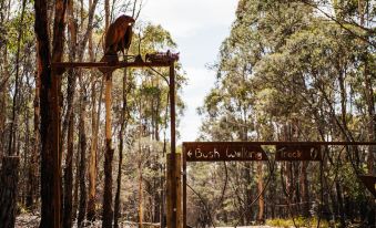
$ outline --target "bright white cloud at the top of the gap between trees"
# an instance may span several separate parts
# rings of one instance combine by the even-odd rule
[[[228,25],[234,20],[235,0],[146,0],[143,20],[160,23],[173,37],[192,35],[197,29]]]

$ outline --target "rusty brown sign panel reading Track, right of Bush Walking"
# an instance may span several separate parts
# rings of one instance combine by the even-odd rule
[[[276,145],[275,160],[322,160],[319,145]]]

